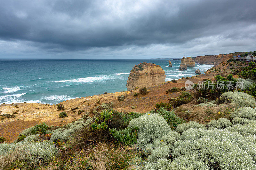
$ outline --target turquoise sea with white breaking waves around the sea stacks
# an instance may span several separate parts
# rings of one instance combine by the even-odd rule
[[[0,104],[49,103],[126,91],[132,68],[141,62],[160,65],[166,74],[165,81],[204,73],[213,65],[197,64],[179,70],[180,60],[169,59],[109,59],[109,60],[58,60],[58,59],[0,59]]]

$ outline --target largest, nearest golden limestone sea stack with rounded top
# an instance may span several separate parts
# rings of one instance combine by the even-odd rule
[[[151,87],[163,82],[165,82],[165,71],[161,66],[140,63],[132,68],[126,88],[127,90],[134,90],[136,87]]]

